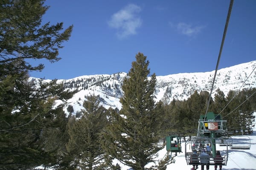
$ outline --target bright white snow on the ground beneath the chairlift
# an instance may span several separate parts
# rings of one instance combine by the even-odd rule
[[[254,113],[256,115],[256,112]],[[255,124],[255,122],[254,122]],[[222,170],[256,170],[256,127],[253,129],[253,134],[248,136],[250,138],[250,150],[248,149],[230,149],[228,147],[228,161],[227,166],[222,166]],[[234,139],[239,136],[233,136]],[[182,142],[182,149],[185,148],[185,142]],[[226,146],[218,146],[216,144],[216,150],[226,150]],[[159,151],[159,158],[163,158],[166,154],[166,148]],[[166,170],[190,170],[192,165],[187,165],[185,159],[185,153],[177,153],[175,163],[169,164]],[[117,161],[115,161],[117,162]],[[131,168],[120,164],[122,170],[132,170]],[[204,167],[206,169],[206,167]],[[201,166],[198,166],[198,170],[201,170]],[[209,170],[214,170],[214,166],[210,166]]]

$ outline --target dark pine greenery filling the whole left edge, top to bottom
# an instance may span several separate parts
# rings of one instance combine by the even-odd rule
[[[55,100],[65,102],[73,93],[55,80],[29,79],[29,71],[44,65],[26,60],[58,61],[58,49],[70,37],[73,26],[62,31],[63,23],[41,25],[47,9],[44,0],[0,1],[0,169],[52,166],[63,148],[55,137],[62,136],[66,122]]]

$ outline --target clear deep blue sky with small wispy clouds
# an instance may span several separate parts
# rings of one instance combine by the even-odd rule
[[[151,74],[207,72],[216,67],[229,0],[46,0],[42,23],[74,26],[62,59],[32,77],[71,79],[131,69],[138,52]],[[220,68],[256,60],[256,0],[234,0]]]

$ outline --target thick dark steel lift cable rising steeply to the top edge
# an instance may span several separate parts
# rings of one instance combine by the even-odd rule
[[[222,41],[221,41],[221,48],[220,48],[219,55],[218,55],[218,61],[217,61],[216,68],[215,68],[215,74],[214,74],[214,77],[213,77],[213,80],[212,80],[212,88],[211,88],[211,92],[209,94],[209,99],[208,99],[208,103],[207,103],[207,109],[206,109],[206,113],[205,113],[205,116],[204,116],[204,120],[206,119],[207,111],[208,111],[209,104],[210,104],[212,90],[213,90],[216,74],[217,74],[217,71],[218,71],[218,64],[219,64],[220,59],[221,59],[221,52],[222,52],[222,48],[223,48],[225,37],[226,37],[226,33],[227,33],[227,26],[228,26],[228,23],[229,23],[229,20],[230,20],[232,6],[233,6],[233,0],[230,0],[230,6],[229,6],[229,9],[228,9],[228,13],[227,13],[227,20],[226,20],[226,24],[225,24],[225,28],[224,28],[224,32],[223,32]]]

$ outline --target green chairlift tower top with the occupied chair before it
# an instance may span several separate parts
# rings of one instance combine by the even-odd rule
[[[211,146],[208,150],[209,165],[227,165],[228,160],[228,144],[227,144],[227,129],[226,120],[221,119],[221,115],[216,115],[213,112],[208,112],[205,116],[201,115],[198,120],[198,133],[196,137],[192,137],[185,143],[185,158],[188,165],[201,164],[200,154],[203,149],[206,149],[206,144]],[[216,144],[222,145],[221,150],[217,150]],[[223,149],[224,148],[224,149]],[[223,161],[215,160],[217,152],[220,151]],[[193,153],[197,157],[192,156]]]

